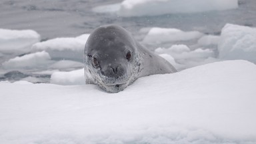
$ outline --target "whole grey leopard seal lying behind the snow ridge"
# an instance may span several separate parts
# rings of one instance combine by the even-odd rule
[[[85,83],[109,93],[123,91],[139,77],[175,73],[176,69],[139,44],[123,27],[97,27],[84,49]]]

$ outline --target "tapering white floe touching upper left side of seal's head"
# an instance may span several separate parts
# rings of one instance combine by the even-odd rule
[[[83,49],[89,34],[78,37],[60,37],[49,39],[32,46],[34,51],[47,51],[52,59],[70,59],[83,61]]]

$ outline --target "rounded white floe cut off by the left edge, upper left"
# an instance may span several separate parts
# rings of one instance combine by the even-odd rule
[[[40,39],[40,35],[33,30],[0,29],[0,52],[27,53],[31,51],[31,45]]]

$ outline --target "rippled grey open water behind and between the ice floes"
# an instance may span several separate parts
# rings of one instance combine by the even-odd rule
[[[255,0],[240,0],[238,9],[227,11],[153,17],[118,17],[92,11],[93,7],[118,2],[121,0],[1,0],[0,28],[33,29],[41,35],[42,40],[46,40],[55,37],[76,37],[82,33],[90,33],[100,25],[114,23],[125,27],[136,39],[141,40],[143,36],[139,33],[139,29],[143,27],[171,27],[212,35],[219,35],[226,23],[256,27]],[[159,46],[161,45],[157,45]],[[151,49],[155,47],[153,45]],[[5,60],[7,59],[1,58],[1,61]],[[1,71],[0,65],[0,75],[0,81],[15,81],[29,74],[26,71],[22,73],[21,71]],[[46,79],[50,77],[49,75],[32,76]]]

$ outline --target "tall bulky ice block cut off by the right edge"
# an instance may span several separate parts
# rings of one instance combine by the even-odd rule
[[[226,24],[218,45],[220,59],[245,59],[256,63],[256,28]]]

